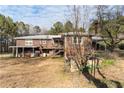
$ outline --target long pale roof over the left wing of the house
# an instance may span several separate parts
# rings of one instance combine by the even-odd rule
[[[61,38],[61,35],[22,36],[22,37],[15,37],[14,39],[53,39],[53,38]]]

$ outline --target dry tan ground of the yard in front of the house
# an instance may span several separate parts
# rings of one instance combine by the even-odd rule
[[[116,84],[118,86],[121,84],[121,87],[124,87],[123,62],[124,60],[120,60],[109,68],[101,69],[107,80],[116,80]],[[97,78],[105,80],[99,75]],[[4,58],[0,59],[0,87],[92,88],[98,86],[94,82],[89,82],[81,73],[65,72],[63,58]]]

